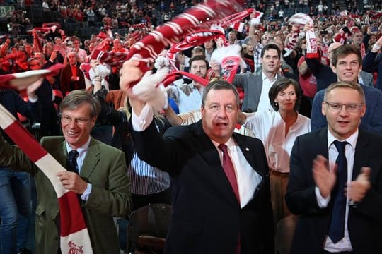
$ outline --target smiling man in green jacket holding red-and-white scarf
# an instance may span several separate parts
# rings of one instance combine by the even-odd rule
[[[132,207],[123,152],[91,138],[100,106],[86,91],[73,91],[60,104],[63,137],[45,137],[42,147],[68,168],[76,150],[77,172],[57,174],[64,188],[79,195],[93,253],[120,253],[113,217],[125,217]],[[35,175],[37,188],[35,253],[59,253],[59,204],[50,180],[0,135],[0,166]]]

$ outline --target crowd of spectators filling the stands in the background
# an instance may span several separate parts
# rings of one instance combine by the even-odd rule
[[[27,5],[26,2],[24,4]],[[82,38],[82,40],[74,36],[71,30],[65,30],[64,23],[58,24],[54,29],[52,28],[54,25],[47,25],[45,31],[36,29],[37,24],[33,24],[28,18],[28,16],[30,17],[28,8],[19,8],[3,17],[7,21],[8,36],[1,36],[0,39],[0,74],[47,68],[54,63],[66,65],[60,75],[45,78],[45,88],[37,91],[38,97],[54,98],[45,100],[43,109],[46,112],[46,119],[41,122],[40,135],[57,135],[59,133],[57,106],[67,92],[89,88],[79,66],[81,63],[91,61],[90,56],[97,47],[102,44],[103,50],[106,52],[127,54],[129,47],[141,40],[147,32],[193,4],[197,4],[197,1],[154,0],[144,1],[140,6],[134,0],[128,2],[107,0],[102,3],[95,0],[42,1],[41,6],[44,11],[61,13],[64,18],[73,18],[88,26],[97,27],[101,24],[93,35]],[[308,0],[276,0],[268,4],[269,9],[265,2],[250,2],[248,7],[254,7],[257,11],[269,11],[270,15],[265,16],[260,25],[250,25],[249,19],[247,19],[243,21],[245,23],[243,30],[226,29],[227,41],[230,44],[241,46],[242,56],[248,63],[248,68],[241,68],[238,72],[261,75],[263,71],[263,60],[260,55],[262,49],[267,44],[276,44],[279,51],[282,52],[282,56],[274,74],[277,74],[277,77],[284,76],[299,82],[303,91],[303,99],[306,99],[305,102],[301,102],[300,112],[306,117],[310,117],[316,93],[324,90],[329,84],[322,86],[318,69],[309,68],[311,63],[305,61],[306,38],[303,28],[301,28],[296,42],[291,45],[294,31],[288,24],[288,18],[290,14],[302,8],[308,10],[314,21],[313,30],[316,34],[319,53],[316,66],[330,66],[330,45],[333,42],[340,42],[338,37],[342,38],[343,35],[345,40],[342,43],[354,44],[364,58],[364,71],[368,73],[359,75],[359,83],[382,90],[382,78],[378,73],[381,71],[382,61],[380,60],[380,46],[377,43],[381,41],[382,17],[379,13],[371,11],[381,8],[382,3],[364,0],[362,2],[364,13],[359,12],[358,4],[354,0],[347,1],[345,11],[340,9],[338,1],[319,1],[318,5],[312,6],[311,1]],[[293,10],[293,13],[288,12],[289,15],[287,15],[286,9]],[[126,28],[125,33],[120,33],[120,28]],[[113,33],[113,40],[108,37],[109,30],[117,31]],[[349,32],[347,32],[348,30]],[[290,46],[292,46],[292,53],[287,54]],[[217,78],[221,73],[219,73],[219,66],[216,68],[216,62],[211,59],[214,49],[216,49],[216,44],[211,41],[195,47],[195,50],[180,52],[177,57],[179,62],[175,65],[179,66],[181,70],[192,68],[192,62],[195,61],[192,57],[195,57],[196,52],[202,56],[202,59],[206,59],[206,70],[202,78]],[[376,51],[376,49],[378,50]],[[207,70],[208,66],[212,68]],[[118,72],[118,67],[113,67],[110,71],[107,90],[117,90]],[[369,82],[365,77],[371,77]],[[47,89],[50,87],[52,89]],[[195,103],[199,105],[199,102]],[[174,109],[176,110],[177,107],[175,101]],[[98,124],[104,123],[99,122]],[[112,131],[108,135],[111,136]],[[99,138],[105,137],[100,136]]]

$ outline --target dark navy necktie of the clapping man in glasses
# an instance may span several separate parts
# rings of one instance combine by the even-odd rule
[[[335,140],[334,145],[338,151],[337,163],[337,184],[335,187],[335,200],[332,207],[332,218],[330,220],[329,237],[333,243],[337,243],[344,238],[346,196],[344,194],[347,182],[347,161],[345,156],[346,141]]]

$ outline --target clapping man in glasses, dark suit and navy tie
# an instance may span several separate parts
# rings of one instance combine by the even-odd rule
[[[296,138],[286,195],[300,215],[291,253],[382,252],[382,136],[359,128],[365,111],[358,84],[333,83],[322,103],[328,128]]]

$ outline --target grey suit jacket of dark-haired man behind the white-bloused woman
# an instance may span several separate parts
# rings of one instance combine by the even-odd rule
[[[277,73],[276,78],[281,76]],[[235,76],[232,85],[241,87],[244,90],[242,111],[255,112],[260,102],[262,90],[262,75],[254,75],[253,73],[243,73]]]

